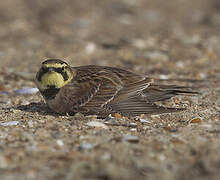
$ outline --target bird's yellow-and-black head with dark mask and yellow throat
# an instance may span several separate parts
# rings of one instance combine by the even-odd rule
[[[36,84],[40,91],[60,89],[68,84],[74,76],[74,71],[66,62],[59,59],[47,59],[42,62],[36,75]]]

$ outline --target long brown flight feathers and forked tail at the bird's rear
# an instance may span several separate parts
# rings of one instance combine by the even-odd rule
[[[137,93],[137,91],[130,91],[129,93],[129,90],[132,90],[130,86],[125,87],[118,93],[118,96],[109,103],[112,111],[120,112],[126,116],[138,116],[141,114],[162,114],[182,111],[185,109],[166,108],[163,106],[158,106],[154,102],[169,99],[175,95],[197,94],[195,91],[190,91],[189,87],[155,85],[151,82],[149,82],[149,85],[140,91],[140,93]]]

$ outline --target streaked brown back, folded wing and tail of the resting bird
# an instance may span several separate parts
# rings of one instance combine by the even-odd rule
[[[184,93],[177,87],[175,91],[170,87],[161,88],[154,85],[151,78],[138,76],[118,68],[87,66],[76,70],[78,72],[76,78],[62,88],[62,91],[66,89],[68,93],[66,97],[70,97],[68,99],[70,111],[105,117],[116,112],[138,116],[184,110],[165,108],[153,103],[160,99],[170,98],[176,95],[175,93]]]

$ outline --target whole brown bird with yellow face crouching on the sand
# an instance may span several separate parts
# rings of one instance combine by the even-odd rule
[[[85,65],[71,67],[60,59],[42,62],[36,86],[48,107],[61,115],[110,114],[136,117],[185,110],[157,105],[176,95],[196,94],[184,86],[161,85],[148,76],[117,67]]]

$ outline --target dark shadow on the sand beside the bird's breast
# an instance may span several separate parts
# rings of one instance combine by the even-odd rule
[[[13,109],[25,111],[25,112],[32,112],[32,113],[39,113],[41,115],[53,115],[53,116],[60,116],[60,114],[53,112],[45,103],[30,103],[28,105],[20,105],[13,107]]]

